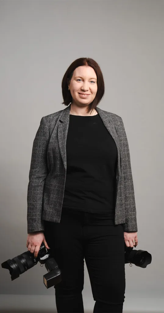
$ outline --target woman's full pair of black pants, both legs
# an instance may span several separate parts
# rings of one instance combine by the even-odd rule
[[[105,214],[62,209],[60,223],[44,221],[45,238],[62,271],[55,285],[57,312],[84,312],[84,258],[91,282],[93,312],[122,313],[125,299],[123,225]]]

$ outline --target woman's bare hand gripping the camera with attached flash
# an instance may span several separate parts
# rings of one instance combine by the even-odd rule
[[[42,242],[44,242],[47,249],[50,249],[42,231],[28,234],[26,247],[28,251],[34,253],[34,258],[37,258],[37,254],[39,252]]]

